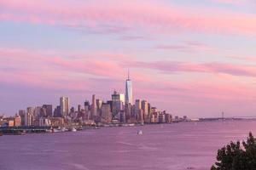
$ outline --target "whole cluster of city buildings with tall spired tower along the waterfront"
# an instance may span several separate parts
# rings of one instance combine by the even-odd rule
[[[93,94],[91,101],[84,101],[77,108],[71,107],[68,97],[60,98],[60,105],[42,105],[27,107],[15,116],[0,116],[0,126],[51,126],[63,127],[77,125],[101,125],[120,123],[170,123],[186,121],[187,117],[175,117],[166,111],[158,111],[145,99],[133,100],[132,82],[125,81],[125,94],[114,91],[111,99],[103,101]]]

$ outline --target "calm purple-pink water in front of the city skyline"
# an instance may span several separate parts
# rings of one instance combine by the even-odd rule
[[[142,129],[143,135],[137,135]],[[183,122],[75,133],[0,137],[0,170],[210,169],[230,140],[256,135],[256,122]]]

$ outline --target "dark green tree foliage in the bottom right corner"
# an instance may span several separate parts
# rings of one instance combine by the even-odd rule
[[[256,143],[249,133],[247,141],[230,142],[218,150],[217,162],[211,170],[256,170]]]

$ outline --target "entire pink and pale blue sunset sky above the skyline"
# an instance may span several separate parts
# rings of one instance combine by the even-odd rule
[[[255,0],[0,0],[0,113],[125,93],[191,117],[256,116]]]

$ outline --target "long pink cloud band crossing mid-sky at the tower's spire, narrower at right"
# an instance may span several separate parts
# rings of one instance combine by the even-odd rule
[[[91,77],[109,78],[123,82],[125,68],[135,68],[132,77],[137,82],[154,83],[150,75],[140,71],[150,69],[157,75],[186,72],[209,73],[213,77],[256,77],[253,65],[231,65],[223,63],[189,63],[172,61],[142,62],[124,54],[44,54],[22,48],[0,48],[1,82],[24,83],[42,88],[83,89],[84,84],[93,88]],[[72,57],[74,56],[74,57]],[[23,66],[26,65],[26,66]],[[164,74],[162,74],[164,73]],[[221,78],[221,77],[220,77]],[[224,77],[226,79],[226,77]],[[86,83],[85,83],[86,82]],[[161,82],[162,83],[162,82]]]

